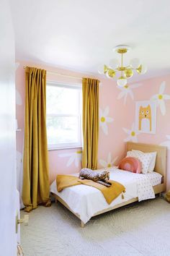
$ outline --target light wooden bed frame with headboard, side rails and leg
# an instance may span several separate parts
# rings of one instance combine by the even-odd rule
[[[161,174],[163,176],[163,179],[162,179],[161,184],[158,184],[158,185],[153,187],[153,190],[154,190],[155,194],[160,194],[161,195],[161,192],[166,191],[166,157],[167,157],[166,147],[159,146],[159,145],[127,142],[126,151],[130,151],[130,150],[140,150],[140,151],[143,151],[143,152],[157,152],[156,166],[154,168],[154,171],[158,172],[158,174]],[[78,218],[80,218],[79,214],[74,213],[73,210],[71,210],[71,208],[69,208],[69,206],[66,204],[66,202],[64,202],[61,199],[61,197],[58,197],[58,195],[55,195],[53,193],[52,193],[52,195],[53,195],[53,197],[55,197],[55,202],[57,202],[57,201],[61,202],[66,208],[68,208],[68,210],[71,211],[71,213],[73,213]],[[106,208],[104,210],[100,210],[99,212],[95,213],[94,216],[97,216],[101,213],[106,213],[109,210],[114,210],[116,208],[120,208],[124,205],[129,205],[130,203],[136,202],[136,201],[138,201],[138,197],[130,199],[126,202],[122,202],[122,203],[120,203],[118,205],[115,205],[113,207],[109,207],[109,208]],[[81,221],[81,228],[84,228],[84,222],[83,221]]]

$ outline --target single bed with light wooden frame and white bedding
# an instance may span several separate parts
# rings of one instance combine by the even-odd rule
[[[94,187],[81,184],[58,192],[56,182],[54,181],[51,184],[50,192],[55,197],[55,201],[61,202],[68,210],[76,215],[81,220],[81,227],[84,227],[84,224],[93,216],[120,208],[132,202],[154,198],[156,194],[161,195],[161,192],[166,191],[166,147],[127,142],[126,150],[127,152],[130,150],[140,150],[143,152],[156,151],[157,156],[153,174],[133,174],[115,167],[109,168],[110,179],[122,183],[126,188],[124,199],[120,195],[108,205],[102,193]],[[79,174],[72,175],[78,176]],[[140,193],[141,195],[139,194],[139,191],[143,189],[141,184],[145,184],[145,186],[148,184],[146,190],[151,195],[145,197],[146,195],[142,195],[143,193]]]

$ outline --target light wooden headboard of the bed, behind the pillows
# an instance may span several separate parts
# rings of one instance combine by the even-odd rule
[[[135,142],[127,142],[126,150],[140,150],[143,152],[157,152],[156,166],[154,171],[164,176],[164,184],[166,184],[166,147],[160,145],[151,145]]]

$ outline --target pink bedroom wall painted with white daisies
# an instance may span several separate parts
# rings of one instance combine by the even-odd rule
[[[17,120],[18,127],[22,129],[21,132],[17,132],[17,151],[22,155],[24,135],[23,66],[27,65],[30,67],[41,67],[49,71],[61,72],[62,74],[70,74],[78,77],[88,77],[88,75],[47,67],[40,64],[32,64],[25,61],[17,61],[17,63],[19,63],[19,67],[16,71],[16,88],[17,92],[19,93],[17,95],[18,103],[20,103],[20,105],[17,104]],[[48,75],[47,80],[81,83],[81,80],[51,74]],[[170,135],[170,100],[167,99],[164,101],[166,106],[166,114],[161,114],[160,106],[157,108],[156,135],[139,134],[133,137],[128,137],[129,135],[127,133],[128,130],[132,128],[133,123],[135,123],[135,101],[148,101],[153,95],[160,94],[158,93],[160,85],[164,81],[166,82],[166,85],[163,94],[170,95],[170,75],[156,77],[151,80],[144,80],[140,83],[134,83],[130,85],[129,88],[123,88],[121,90],[120,88],[117,88],[114,80],[100,79],[100,81],[100,116],[104,116],[107,122],[100,122],[98,167],[101,168],[109,163],[112,164],[114,161],[115,164],[117,164],[125,155],[125,140],[136,140],[138,142],[153,143],[158,145],[164,142],[164,145],[169,146],[167,178],[168,188],[170,188],[170,137],[167,137],[167,135]],[[48,153],[50,164],[50,182],[55,179],[56,174],[71,174],[78,172],[81,169],[80,148],[69,150],[50,150]]]

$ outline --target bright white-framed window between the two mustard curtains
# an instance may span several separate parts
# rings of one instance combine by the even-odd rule
[[[81,147],[81,86],[47,82],[48,149]]]

